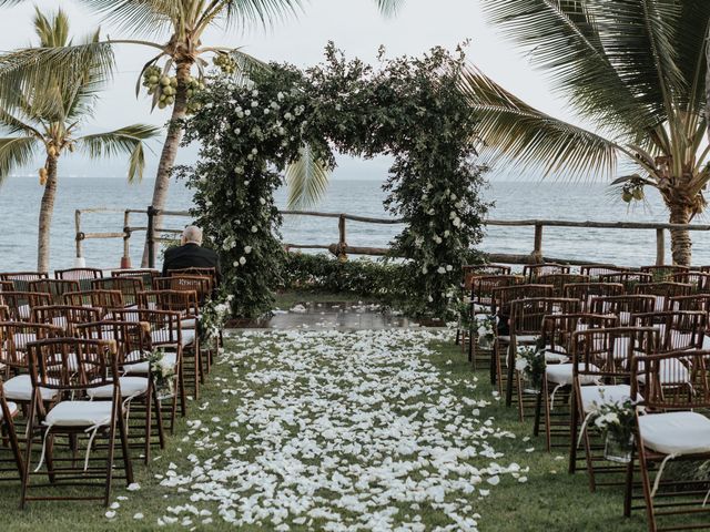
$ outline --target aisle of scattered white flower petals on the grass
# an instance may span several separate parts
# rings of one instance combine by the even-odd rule
[[[159,524],[477,530],[477,501],[505,477],[527,479],[496,451],[515,436],[486,417],[489,398],[430,362],[436,340],[450,335],[235,336],[219,362],[233,374],[219,382],[229,419],[207,403],[193,410],[182,443],[191,469],[170,464],[161,482],[191,503],[166,508]]]

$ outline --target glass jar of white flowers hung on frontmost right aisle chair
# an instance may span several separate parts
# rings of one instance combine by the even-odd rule
[[[636,409],[631,399],[623,402],[602,402],[592,417],[605,437],[604,457],[618,463],[629,463],[633,451]]]

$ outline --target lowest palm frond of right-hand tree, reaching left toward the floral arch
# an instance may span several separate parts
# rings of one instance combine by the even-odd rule
[[[460,89],[479,119],[480,153],[491,164],[506,161],[545,175],[613,175],[625,150],[613,141],[536,110],[474,68],[464,71]]]

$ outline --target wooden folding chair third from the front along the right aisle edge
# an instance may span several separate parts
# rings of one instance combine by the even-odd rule
[[[568,402],[571,385],[571,340],[578,330],[611,328],[617,326],[616,316],[596,314],[554,314],[542,318],[540,344],[545,346],[545,362],[547,369],[542,380],[542,391],[538,396],[535,409],[535,426],[532,433],[539,434],[540,422],[545,422],[545,443],[549,452],[552,447],[552,436],[566,437],[565,447],[569,447],[569,411],[561,410],[559,405]],[[551,391],[550,391],[551,389]],[[560,397],[562,396],[562,397]],[[557,401],[555,402],[555,398]],[[558,406],[557,410],[554,409]],[[562,422],[552,422],[555,418],[564,418]],[[544,416],[542,416],[544,415]],[[552,433],[552,427],[556,428]]]

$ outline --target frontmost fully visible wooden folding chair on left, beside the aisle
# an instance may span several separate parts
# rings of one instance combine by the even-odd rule
[[[133,482],[133,469],[129,454],[125,416],[115,344],[110,340],[87,340],[60,338],[40,340],[29,345],[30,375],[32,379],[32,402],[28,419],[28,441],[24,454],[21,508],[28,501],[37,500],[99,500],[109,505],[111,485],[114,478],[116,429],[122,450],[121,466],[126,485]],[[109,400],[91,400],[99,389],[111,389]],[[42,389],[57,395],[54,405],[45,408]],[[65,436],[75,441],[88,436],[85,459],[77,467],[74,456],[62,457],[54,453],[54,439]],[[106,440],[105,458],[91,458],[97,438]],[[39,464],[33,468],[32,451],[36,439],[41,441],[42,453]],[[99,464],[94,466],[97,462]],[[47,471],[40,472],[43,463]],[[32,482],[31,479],[47,474],[49,482]],[[118,478],[118,477],[116,477]],[[101,482],[97,482],[101,481]],[[84,487],[85,495],[31,495],[30,490],[39,488],[60,489],[62,485]],[[103,493],[97,495],[95,488],[103,485]]]

